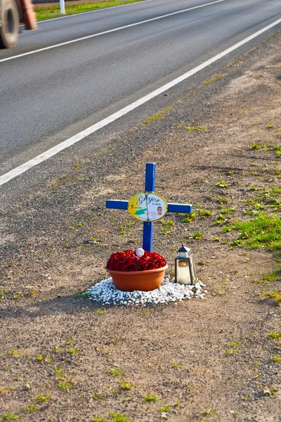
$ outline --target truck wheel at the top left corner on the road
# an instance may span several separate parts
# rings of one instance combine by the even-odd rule
[[[10,49],[18,41],[20,17],[15,0],[3,0],[0,8],[0,47]]]

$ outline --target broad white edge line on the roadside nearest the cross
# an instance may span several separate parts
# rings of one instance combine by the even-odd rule
[[[134,110],[135,108],[142,106],[144,103],[147,103],[152,98],[155,98],[159,94],[162,94],[164,91],[167,91],[168,89],[172,87],[175,87],[177,84],[183,82],[185,79],[188,79],[188,77],[195,75],[195,73],[200,72],[200,70],[204,68],[207,68],[207,66],[216,62],[220,58],[223,58],[224,56],[231,53],[232,51],[239,49],[240,46],[243,46],[244,44],[246,44],[247,42],[251,41],[252,39],[256,37],[259,37],[259,35],[263,34],[263,32],[270,30],[270,28],[273,28],[276,25],[279,25],[280,23],[281,23],[281,19],[275,20],[275,22],[271,23],[270,25],[267,25],[262,30],[259,30],[255,32],[254,34],[251,34],[249,37],[242,39],[242,41],[237,42],[237,44],[234,44],[229,49],[222,51],[221,53],[217,54],[213,58],[210,58],[209,60],[197,66],[196,68],[189,70],[189,72],[184,73],[180,77],[177,77],[176,79],[169,82],[168,84],[163,85],[162,87],[156,89],[155,91],[152,91],[150,94],[135,101],[134,103],[129,104],[129,106],[122,108],[121,110],[117,111],[117,113],[114,113],[106,117],[105,119],[100,120],[100,122],[93,124],[93,126],[90,126],[87,129],[83,130],[82,132],[79,132],[79,134],[72,136],[70,139],[67,139],[66,141],[59,143],[57,146],[54,146],[53,148],[49,149],[45,153],[42,153],[41,155],[37,155],[37,157],[32,158],[32,160],[27,161],[18,167],[15,167],[15,169],[11,170],[11,172],[3,174],[3,176],[0,177],[0,186],[7,183],[11,179],[18,177],[20,174],[27,172],[27,170],[30,170],[35,165],[38,165],[45,160],[48,160],[48,158],[51,158],[53,157],[53,155],[56,155],[60,151],[65,150],[65,148],[68,148],[69,146],[74,145],[74,143],[81,141],[81,139],[86,138],[86,136],[89,136],[93,134],[94,132],[97,132],[98,129],[101,129],[102,127],[107,126],[107,124],[114,122],[115,120],[119,119],[119,117],[122,117],[126,115],[127,113],[129,113],[130,111]]]

